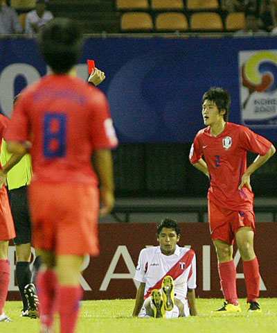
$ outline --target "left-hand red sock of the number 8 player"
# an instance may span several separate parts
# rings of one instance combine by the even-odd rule
[[[37,274],[37,295],[42,325],[53,326],[57,303],[57,275],[53,270],[39,271]]]

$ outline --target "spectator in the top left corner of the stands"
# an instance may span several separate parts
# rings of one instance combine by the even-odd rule
[[[22,33],[17,12],[0,1],[0,35]]]

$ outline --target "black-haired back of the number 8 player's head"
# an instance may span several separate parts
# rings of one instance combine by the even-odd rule
[[[39,33],[37,43],[53,72],[66,74],[80,57],[82,36],[71,19],[55,18]]]

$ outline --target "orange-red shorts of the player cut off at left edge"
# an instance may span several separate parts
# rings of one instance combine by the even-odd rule
[[[0,189],[0,241],[15,238],[15,225],[10,212],[10,203],[6,187]]]

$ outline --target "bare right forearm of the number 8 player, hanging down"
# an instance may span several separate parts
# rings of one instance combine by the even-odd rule
[[[93,153],[93,167],[102,189],[114,191],[113,164],[110,149],[98,149]]]

